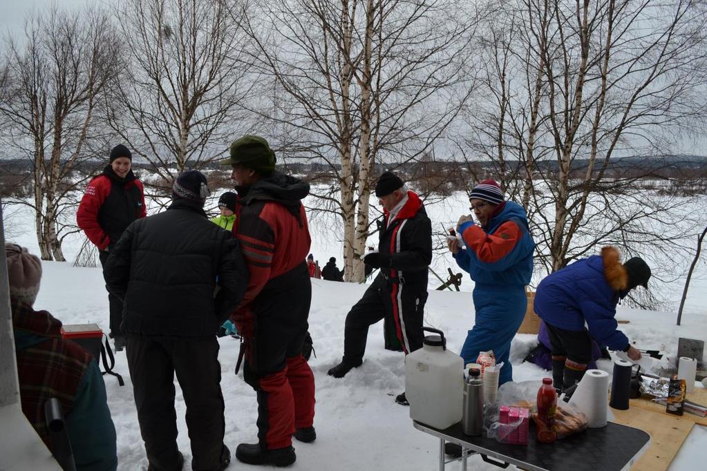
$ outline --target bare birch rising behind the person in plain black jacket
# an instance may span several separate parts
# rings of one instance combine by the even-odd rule
[[[247,37],[230,13],[222,0],[117,4],[127,56],[106,114],[158,175],[146,181],[153,196],[168,195],[177,174],[206,167],[251,126],[243,112],[252,88]]]

